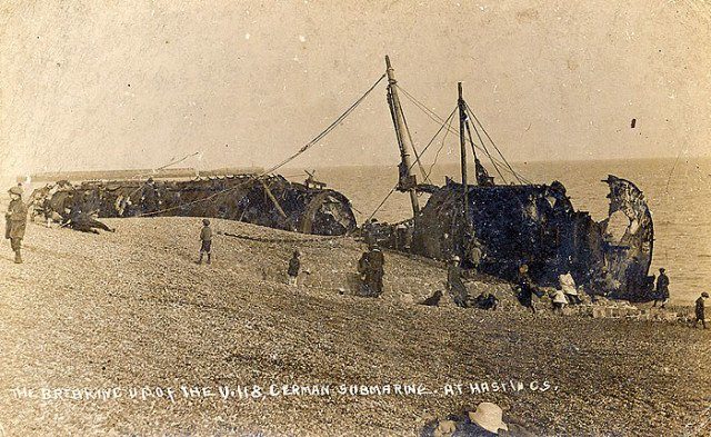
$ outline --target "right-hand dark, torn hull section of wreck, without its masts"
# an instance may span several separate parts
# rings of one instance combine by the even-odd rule
[[[559,275],[570,271],[589,292],[649,300],[651,213],[632,182],[613,176],[605,182],[610,218],[597,222],[574,210],[558,181],[469,186],[464,212],[462,185],[448,180],[414,217],[411,250],[435,259],[457,255],[463,267],[471,267],[472,249],[478,248],[483,254],[477,262],[481,272],[514,280],[525,264],[540,286],[555,286]],[[610,232],[611,218],[619,215],[625,227],[615,236]]]

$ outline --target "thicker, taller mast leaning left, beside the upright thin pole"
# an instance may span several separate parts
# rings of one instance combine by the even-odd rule
[[[398,146],[400,147],[400,162],[398,190],[410,192],[410,202],[412,203],[412,215],[417,216],[420,212],[420,203],[418,201],[417,193],[417,179],[412,175],[412,159],[410,150],[412,145],[410,138],[407,135],[407,126],[404,123],[404,117],[402,116],[402,108],[400,107],[400,98],[398,97],[398,87],[395,85],[395,73],[390,64],[390,58],[385,56],[385,67],[388,75],[388,105],[390,106],[390,115],[392,116],[392,122],[395,127],[395,136],[398,137]]]

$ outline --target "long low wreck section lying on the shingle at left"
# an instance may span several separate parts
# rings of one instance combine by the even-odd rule
[[[228,176],[182,181],[58,182],[33,195],[44,215],[97,212],[99,217],[184,216],[238,220],[314,235],[356,229],[351,203],[342,193],[290,182],[281,176]]]

